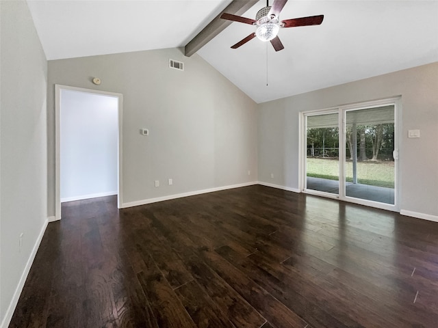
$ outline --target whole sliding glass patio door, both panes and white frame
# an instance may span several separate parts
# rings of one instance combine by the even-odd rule
[[[394,209],[396,100],[302,115],[302,190]]]

